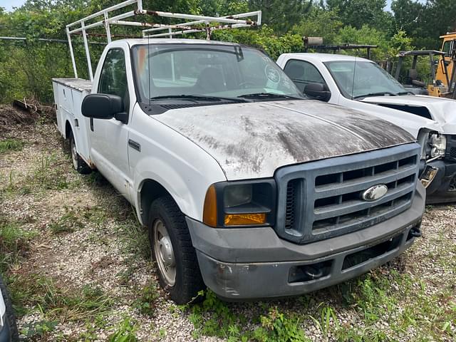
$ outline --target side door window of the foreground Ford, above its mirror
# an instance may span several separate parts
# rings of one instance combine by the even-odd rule
[[[130,98],[128,95],[127,70],[125,68],[125,54],[120,48],[113,48],[106,54],[101,69],[98,93],[118,95],[128,110]]]

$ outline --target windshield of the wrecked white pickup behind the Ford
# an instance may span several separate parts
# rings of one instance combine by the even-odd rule
[[[346,98],[373,95],[404,95],[405,88],[380,66],[368,61],[324,63]]]

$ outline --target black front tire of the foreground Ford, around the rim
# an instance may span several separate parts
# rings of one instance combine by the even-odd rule
[[[165,274],[160,270],[159,260],[155,252],[155,229],[157,222],[163,222],[172,244],[175,256],[175,283],[170,285]],[[157,273],[160,285],[170,294],[176,304],[187,304],[197,297],[199,291],[205,288],[197,261],[195,248],[192,245],[185,217],[170,196],[155,199],[149,212],[149,242],[152,259],[157,263]]]

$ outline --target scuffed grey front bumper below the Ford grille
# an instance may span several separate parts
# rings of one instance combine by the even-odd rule
[[[209,289],[228,300],[261,299],[316,291],[393,259],[413,244],[424,206],[425,190],[418,186],[405,212],[304,245],[280,239],[271,227],[214,229],[190,218],[187,224]]]

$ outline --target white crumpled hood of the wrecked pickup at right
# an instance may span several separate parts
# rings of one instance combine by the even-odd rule
[[[435,98],[425,95],[403,95],[403,96],[375,96],[364,98],[363,102],[377,105],[394,105],[396,109],[405,110],[410,113],[411,107],[426,108],[418,116],[435,120],[443,129],[443,133],[456,134],[456,100],[449,98]],[[402,109],[402,108],[403,109]],[[412,108],[413,110],[413,108]]]

